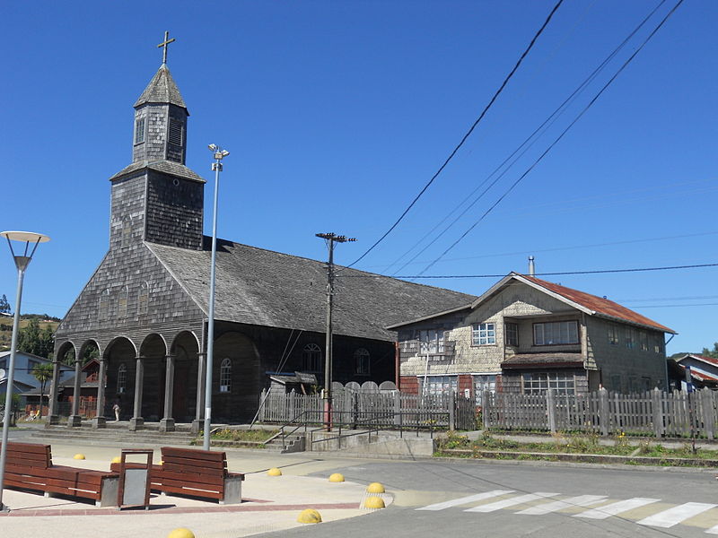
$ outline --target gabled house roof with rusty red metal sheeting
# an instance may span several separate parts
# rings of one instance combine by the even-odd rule
[[[642,316],[641,314],[638,314],[637,312],[634,312],[629,308],[623,307],[612,300],[603,299],[601,297],[591,295],[590,293],[586,293],[584,291],[573,290],[571,288],[561,286],[560,284],[543,281],[534,276],[527,276],[521,273],[507,274],[503,277],[503,279],[501,279],[499,282],[496,282],[484,294],[482,294],[480,297],[478,297],[476,300],[469,304],[461,305],[460,307],[451,308],[442,312],[436,312],[429,316],[417,317],[411,319],[410,321],[403,321],[396,325],[390,325],[387,328],[390,330],[397,330],[398,327],[401,327],[403,325],[412,325],[420,321],[432,319],[433,317],[440,317],[446,314],[460,312],[461,310],[473,310],[474,308],[477,308],[480,304],[485,302],[486,299],[489,299],[499,291],[502,291],[503,288],[512,281],[523,282],[524,284],[535,288],[538,291],[542,291],[547,295],[550,295],[554,299],[560,300],[561,302],[572,308],[577,308],[582,312],[585,312],[589,316],[605,317],[608,319],[621,321],[623,323],[648,327],[656,331],[661,331],[663,333],[677,334],[673,329],[670,329],[665,325],[661,325],[660,323],[657,323],[652,319],[649,319],[648,317]]]

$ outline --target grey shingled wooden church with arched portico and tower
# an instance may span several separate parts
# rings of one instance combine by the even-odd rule
[[[97,417],[112,407],[130,430],[204,421],[211,239],[203,235],[205,179],[188,169],[188,109],[166,63],[134,105],[132,163],[109,178],[109,250],[57,328],[48,423],[58,422],[60,361],[99,350]],[[323,383],[326,266],[218,240],[213,357],[215,421],[246,421],[271,375],[302,371]],[[384,327],[459,307],[456,291],[353,269],[335,286],[333,378],[395,380],[395,335]],[[366,278],[346,278],[363,276]],[[77,390],[75,390],[77,392]],[[68,424],[82,418],[73,408]]]

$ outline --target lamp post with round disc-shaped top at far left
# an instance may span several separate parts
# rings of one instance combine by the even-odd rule
[[[10,343],[10,364],[7,367],[7,381],[5,392],[5,410],[3,418],[3,444],[0,447],[0,511],[7,512],[9,510],[3,504],[3,488],[5,478],[5,459],[7,457],[7,434],[10,427],[10,408],[13,404],[13,382],[15,377],[15,351],[17,348],[17,332],[20,325],[20,303],[22,299],[22,280],[25,277],[25,269],[30,265],[32,255],[35,254],[38,245],[49,241],[48,236],[32,231],[3,231],[0,236],[7,239],[10,246],[10,252],[15,260],[17,267],[17,296],[15,298],[15,316],[13,317],[13,339]],[[16,254],[11,241],[19,241],[25,243],[25,248],[21,254]]]

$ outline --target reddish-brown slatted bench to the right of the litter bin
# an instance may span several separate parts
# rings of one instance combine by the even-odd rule
[[[241,503],[242,473],[227,471],[224,452],[195,448],[162,447],[162,493],[180,493],[219,504]],[[151,475],[152,482],[155,482]]]

